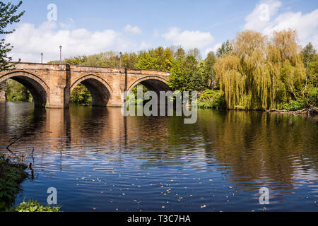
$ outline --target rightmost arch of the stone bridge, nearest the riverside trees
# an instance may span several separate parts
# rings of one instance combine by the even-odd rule
[[[134,81],[132,83],[128,90],[130,91],[132,88],[134,88],[138,84],[146,86],[148,90],[155,91],[156,93],[159,93],[160,91],[169,91],[170,87],[167,85],[167,80],[165,78],[161,78],[159,76],[146,76],[143,78],[139,78],[138,80]]]

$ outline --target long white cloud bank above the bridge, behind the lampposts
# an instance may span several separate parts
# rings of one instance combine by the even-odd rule
[[[84,28],[61,29],[55,22],[42,23],[38,28],[31,23],[21,23],[16,32],[6,35],[6,42],[13,45],[10,52],[13,60],[40,61],[40,53],[44,53],[44,61],[59,59],[59,46],[63,47],[63,57],[98,52],[135,51],[139,45],[127,39],[120,32],[103,30],[90,32]]]

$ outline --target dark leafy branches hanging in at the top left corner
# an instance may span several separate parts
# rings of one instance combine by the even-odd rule
[[[11,34],[15,31],[6,30],[6,27],[20,21],[20,17],[23,16],[24,11],[18,14],[16,14],[16,11],[18,11],[21,4],[22,1],[17,5],[13,5],[11,2],[4,4],[0,1],[0,35]],[[10,64],[12,58],[8,57],[8,52],[10,52],[12,48],[13,46],[9,43],[5,43],[4,39],[0,40],[0,71],[12,69],[13,65]]]

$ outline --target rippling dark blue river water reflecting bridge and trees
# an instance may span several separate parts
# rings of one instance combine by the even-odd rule
[[[122,117],[117,108],[0,106],[0,152],[34,162],[16,198],[64,211],[317,211],[318,124],[285,114],[201,110]],[[34,153],[33,153],[34,148]],[[33,153],[33,155],[32,155]],[[259,189],[269,189],[269,205]]]

